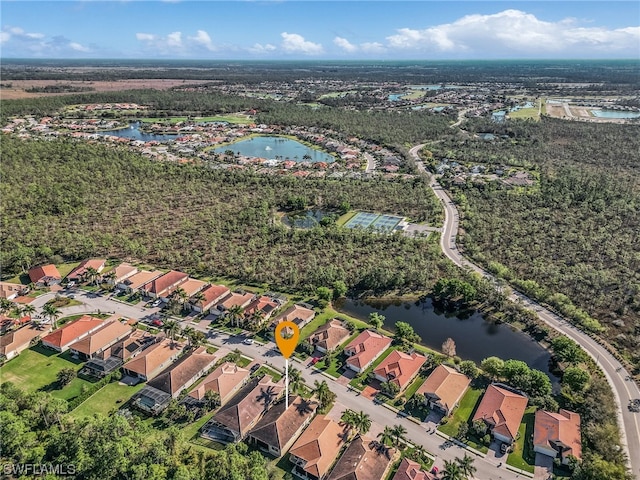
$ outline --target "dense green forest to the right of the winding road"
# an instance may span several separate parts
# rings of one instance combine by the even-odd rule
[[[467,255],[604,335],[640,365],[640,128],[565,122],[483,121],[431,145],[435,164],[525,166],[539,185],[452,186]],[[575,304],[575,305],[574,305]]]

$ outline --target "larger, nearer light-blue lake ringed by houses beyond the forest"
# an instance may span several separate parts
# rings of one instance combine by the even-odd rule
[[[326,162],[331,163],[335,159],[327,152],[307,147],[300,142],[284,137],[260,135],[247,138],[231,145],[218,147],[213,151],[225,153],[231,150],[245,157],[266,158],[269,160],[294,160],[296,162]],[[309,155],[310,159],[303,158]]]

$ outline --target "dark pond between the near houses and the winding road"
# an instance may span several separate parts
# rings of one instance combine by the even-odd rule
[[[545,372],[554,387],[558,386],[558,378],[549,370],[551,355],[547,350],[508,324],[488,322],[479,313],[458,313],[458,316],[444,313],[434,308],[431,299],[418,302],[341,299],[335,307],[363,321],[368,320],[370,313],[378,312],[386,317],[385,329],[390,331],[396,322],[407,322],[422,337],[424,345],[437,351],[441,351],[442,343],[450,337],[456,343],[456,354],[477,364],[490,356],[522,360],[531,368]]]

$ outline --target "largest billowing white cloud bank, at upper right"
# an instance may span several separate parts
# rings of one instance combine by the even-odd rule
[[[416,30],[401,28],[387,37],[394,50],[468,53],[474,56],[573,55],[629,52],[637,55],[640,27],[609,30],[580,27],[573,18],[547,22],[520,10],[467,15],[453,23]]]

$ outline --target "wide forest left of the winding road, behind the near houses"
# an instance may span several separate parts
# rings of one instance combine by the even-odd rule
[[[330,180],[159,163],[126,148],[2,140],[2,264],[18,272],[93,255],[283,289],[428,289],[455,275],[437,241],[337,227],[290,229],[292,206],[441,219],[426,181]]]

